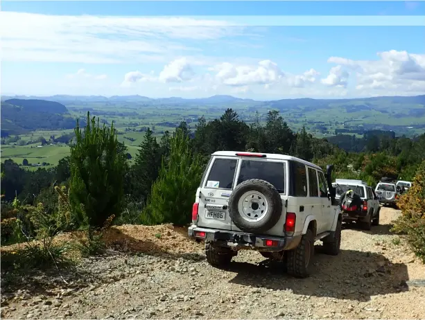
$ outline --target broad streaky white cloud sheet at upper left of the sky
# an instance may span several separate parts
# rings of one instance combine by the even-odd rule
[[[0,12],[3,61],[119,63],[164,61],[170,53],[202,51],[183,39],[243,33],[226,21],[190,17],[39,15]]]

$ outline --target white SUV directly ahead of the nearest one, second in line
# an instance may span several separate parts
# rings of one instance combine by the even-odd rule
[[[376,197],[374,190],[367,186],[365,181],[352,180],[352,179],[336,179],[333,183],[336,188],[336,199],[348,190],[353,190],[357,193],[363,202],[360,208],[354,211],[342,211],[342,222],[356,221],[365,230],[370,230],[371,226],[379,225],[379,206],[378,197]]]

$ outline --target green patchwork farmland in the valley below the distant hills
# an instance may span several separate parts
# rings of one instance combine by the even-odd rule
[[[361,102],[358,102],[361,105]],[[200,116],[205,116],[207,121],[220,118],[225,112],[225,109],[230,107],[234,109],[241,120],[250,124],[256,119],[256,112],[259,113],[261,123],[266,122],[266,115],[270,109],[275,109],[269,105],[261,105],[253,109],[250,103],[237,103],[236,105],[182,105],[180,106],[140,106],[137,103],[84,103],[84,105],[67,105],[69,113],[73,118],[85,118],[87,109],[92,109],[91,114],[100,117],[101,121],[106,121],[108,125],[112,122],[119,131],[119,141],[125,143],[128,147],[128,152],[134,158],[137,154],[137,149],[144,139],[145,132],[128,131],[126,129],[141,130],[144,127],[150,127],[154,131],[154,136],[159,140],[162,133],[165,131],[173,132],[174,126],[167,126],[166,123],[178,125],[181,121],[187,121],[191,130],[194,130]],[[312,109],[311,107],[299,107],[297,109],[282,109],[280,115],[284,118],[289,127],[298,132],[303,125],[306,130],[317,137],[332,136],[336,129],[345,128],[347,125],[371,124],[376,125],[404,125],[406,129],[403,134],[408,136],[414,134],[422,134],[424,130],[407,129],[410,125],[420,125],[425,123],[424,116],[400,116],[401,108],[406,108],[406,105],[394,107],[392,105],[385,109],[385,105],[376,106],[372,110],[354,110],[347,112],[345,107],[338,104],[330,104],[326,109]],[[422,105],[408,105],[409,109],[423,108]],[[381,112],[384,110],[384,112]],[[98,113],[98,114],[96,114]],[[318,123],[322,122],[322,123]],[[345,123],[345,124],[344,124]],[[317,130],[316,126],[324,125],[327,127],[327,132]],[[43,136],[46,141],[49,141],[51,136],[58,138],[63,134],[69,134],[73,130],[50,130],[50,131],[34,131],[29,134],[22,134],[21,140],[36,141],[40,136]],[[358,136],[358,135],[356,135]],[[125,139],[135,139],[130,141]],[[58,161],[69,155],[69,146],[64,144],[44,145],[37,147],[40,143],[31,145],[1,145],[1,161],[5,159],[13,159],[17,163],[22,163],[23,159],[28,159],[30,163],[47,162],[52,165],[57,165]],[[33,148],[31,148],[33,147]],[[27,167],[34,170],[37,167]],[[44,167],[45,168],[45,167]]]

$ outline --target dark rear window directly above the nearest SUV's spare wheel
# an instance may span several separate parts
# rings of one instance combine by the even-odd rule
[[[238,184],[249,179],[266,180],[275,186],[279,193],[285,193],[285,163],[242,160]]]

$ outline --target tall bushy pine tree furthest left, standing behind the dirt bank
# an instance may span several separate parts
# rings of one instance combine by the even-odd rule
[[[70,156],[69,202],[80,224],[89,229],[101,227],[108,218],[121,213],[127,161],[120,152],[114,123],[110,128],[105,124],[101,127],[95,118],[90,120],[87,112],[83,132],[77,121]]]

